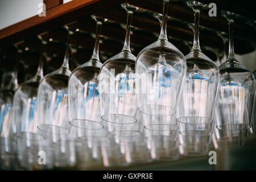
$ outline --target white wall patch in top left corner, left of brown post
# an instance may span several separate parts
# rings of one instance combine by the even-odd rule
[[[43,0],[0,0],[0,29],[38,14]]]

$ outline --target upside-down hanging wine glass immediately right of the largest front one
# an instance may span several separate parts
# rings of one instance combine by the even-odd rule
[[[200,49],[200,9],[203,9],[206,5],[196,1],[189,1],[187,4],[194,11],[195,31],[192,50],[185,56],[187,75],[184,82],[179,117],[195,117],[195,120],[197,120],[197,117],[212,118],[220,73],[216,64],[204,55]]]

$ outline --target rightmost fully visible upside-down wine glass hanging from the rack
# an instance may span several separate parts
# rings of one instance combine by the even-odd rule
[[[255,98],[255,78],[253,73],[234,55],[233,13],[222,12],[229,23],[229,55],[220,65],[221,82],[218,107],[220,117],[216,127],[221,133],[232,134],[247,130],[251,126]],[[245,132],[246,133],[246,132]]]

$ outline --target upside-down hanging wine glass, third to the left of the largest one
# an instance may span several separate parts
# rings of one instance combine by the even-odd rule
[[[46,133],[69,134],[68,78],[69,55],[73,31],[68,26],[67,48],[63,64],[59,69],[44,76],[38,88],[38,129]]]

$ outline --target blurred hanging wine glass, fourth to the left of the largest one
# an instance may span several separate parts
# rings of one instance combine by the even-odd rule
[[[37,95],[39,82],[43,78],[44,55],[48,40],[42,40],[41,56],[36,75],[23,82],[14,94],[14,135],[26,140],[43,140],[44,134],[38,130],[36,114]]]

